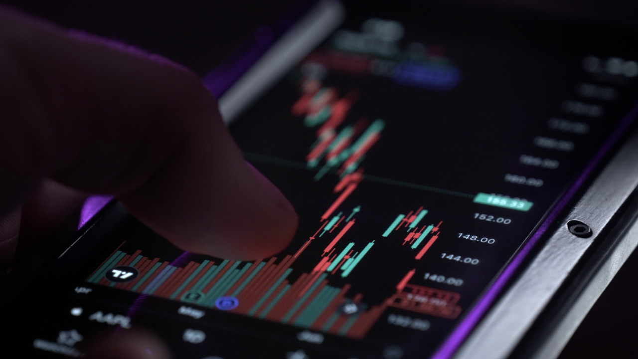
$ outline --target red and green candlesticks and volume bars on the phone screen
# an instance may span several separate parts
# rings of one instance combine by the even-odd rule
[[[143,249],[125,242],[85,280],[355,339],[364,337],[389,307],[458,316],[459,294],[411,283],[416,272],[411,266],[416,267],[439,238],[442,220],[428,220],[429,211],[421,206],[387,218],[385,232],[357,232],[369,227],[362,217],[369,213],[353,194],[365,181],[365,159],[382,139],[385,121],[365,117],[349,121],[357,91],[340,98],[338,89],[311,77],[301,80],[300,89],[291,112],[295,121],[315,134],[305,157],[309,180],[334,181],[334,187],[330,185],[332,194],[322,194],[333,196],[327,208],[316,209],[316,217],[308,220],[315,229],[299,233],[287,254],[255,263],[208,258],[175,264],[146,256]],[[386,284],[381,297],[371,298],[350,280],[379,268],[380,243],[384,248],[413,251],[415,263],[404,263],[403,273],[394,270],[384,279],[394,284]]]

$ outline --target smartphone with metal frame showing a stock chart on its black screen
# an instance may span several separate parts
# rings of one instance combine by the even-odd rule
[[[635,33],[417,2],[286,24],[204,80],[295,206],[290,246],[183,252],[110,202],[7,307],[33,323],[10,346],[80,357],[137,327],[183,359],[558,355],[635,247]]]

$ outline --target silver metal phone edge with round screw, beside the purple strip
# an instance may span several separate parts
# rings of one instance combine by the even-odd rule
[[[635,118],[637,114],[638,106],[634,106],[627,118]],[[621,132],[616,135],[620,136]],[[600,153],[601,160],[603,156],[604,153]],[[556,223],[558,228],[547,243],[501,295],[500,300],[464,341],[454,358],[507,358],[514,351],[554,299],[554,295],[562,286],[569,284],[570,275],[579,262],[586,258],[586,252],[595,243],[604,240],[607,225],[612,223],[638,187],[637,163],[638,132],[634,131],[567,216]],[[593,231],[592,236],[579,238],[570,233],[567,227],[569,220],[580,220],[588,224]],[[630,235],[619,238],[614,248],[614,251],[619,252],[611,252],[602,258],[605,263],[592,273],[597,279],[581,288],[583,293],[587,293],[586,297],[582,297],[584,302],[577,307],[564,308],[558,314],[562,318],[554,318],[552,335],[546,335],[546,342],[537,343],[538,358],[552,358],[560,354],[591,305],[611,282],[613,276],[607,275],[611,273],[611,267],[613,266],[612,273],[615,274],[637,243]],[[614,261],[609,260],[611,257],[614,257]]]

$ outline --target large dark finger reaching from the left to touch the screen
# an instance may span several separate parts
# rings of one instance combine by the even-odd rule
[[[246,165],[193,73],[6,10],[0,69],[0,211],[51,176],[117,195],[186,250],[258,259],[292,238],[294,210]]]

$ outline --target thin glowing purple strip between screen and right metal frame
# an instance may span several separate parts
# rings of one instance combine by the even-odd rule
[[[547,232],[550,225],[554,223],[554,220],[560,215],[560,213],[567,207],[567,204],[574,197],[576,192],[582,187],[583,183],[590,176],[591,172],[600,164],[602,159],[611,150],[612,146],[623,135],[625,130],[632,124],[635,117],[638,116],[638,103],[628,112],[627,116],[621,121],[616,130],[607,139],[603,146],[598,150],[596,155],[591,160],[590,164],[582,171],[581,176],[574,182],[574,185],[569,188],[563,198],[554,206],[554,209],[549,213],[549,216],[545,219],[538,231],[534,233],[530,241],[523,247],[523,249],[514,257],[512,262],[503,270],[500,277],[496,279],[493,286],[491,286],[487,293],[479,300],[479,303],[470,311],[470,313],[463,319],[463,321],[456,327],[454,332],[448,337],[443,345],[431,356],[431,359],[447,359],[450,358],[459,349],[463,341],[470,334],[471,330],[477,325],[482,316],[487,312],[492,305],[496,296],[505,287],[508,280],[514,275],[516,270],[521,266],[524,259],[530,254],[532,248],[540,240],[540,238]]]

